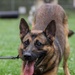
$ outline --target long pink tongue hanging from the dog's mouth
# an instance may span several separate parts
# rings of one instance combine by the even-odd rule
[[[34,73],[34,62],[28,63],[26,62],[24,68],[24,75],[33,75]]]

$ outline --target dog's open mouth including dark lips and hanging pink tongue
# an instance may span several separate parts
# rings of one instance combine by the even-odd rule
[[[35,68],[39,65],[39,63],[44,59],[46,52],[41,52],[40,56],[36,58],[26,59],[25,66],[24,66],[24,75],[33,75]]]

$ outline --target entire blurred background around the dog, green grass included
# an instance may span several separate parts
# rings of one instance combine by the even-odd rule
[[[35,10],[44,2],[60,4],[67,13],[69,29],[75,31],[75,0],[0,0],[0,56],[18,55],[20,19],[25,18],[31,28]],[[75,35],[69,42],[68,64],[71,75],[75,75]],[[21,64],[20,59],[0,59],[0,75],[20,75]],[[58,75],[64,75],[62,63]]]

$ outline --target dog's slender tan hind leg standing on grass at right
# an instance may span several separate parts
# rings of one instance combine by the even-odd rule
[[[64,51],[64,60],[63,60],[63,69],[64,69],[65,75],[70,75],[68,64],[67,64],[69,54],[70,54],[70,46],[68,43],[68,37],[66,37],[66,47],[65,47],[65,51]]]

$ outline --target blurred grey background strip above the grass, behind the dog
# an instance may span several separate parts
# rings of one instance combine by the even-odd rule
[[[66,10],[75,10],[75,0],[0,0],[0,18],[26,15],[31,24],[36,8],[44,2],[60,4]]]

